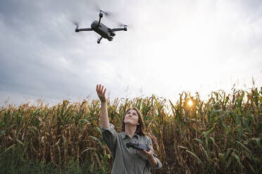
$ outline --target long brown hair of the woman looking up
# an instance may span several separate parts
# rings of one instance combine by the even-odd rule
[[[138,135],[147,135],[146,132],[144,131],[144,119],[142,117],[141,112],[139,111],[139,109],[137,109],[137,107],[131,107],[130,109],[127,109],[127,112],[129,112],[131,109],[135,109],[137,112],[137,116],[138,116],[139,125],[137,125],[137,130],[135,132]],[[124,119],[125,119],[125,115],[127,114],[127,112],[125,112],[123,119],[122,119],[122,131],[125,131]]]

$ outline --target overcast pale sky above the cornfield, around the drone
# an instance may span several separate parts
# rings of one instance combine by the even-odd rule
[[[127,24],[113,41],[73,22]],[[0,106],[262,86],[262,1],[0,1]],[[108,93],[107,93],[108,96]]]

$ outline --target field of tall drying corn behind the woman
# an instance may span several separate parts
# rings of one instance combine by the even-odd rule
[[[262,88],[212,92],[208,100],[183,92],[176,102],[152,95],[107,104],[117,131],[128,108],[142,112],[163,163],[152,173],[262,173]],[[1,153],[20,149],[23,159],[58,168],[89,161],[90,173],[110,173],[99,118],[99,100],[1,107]]]

